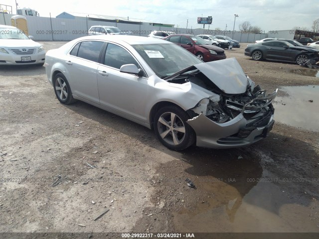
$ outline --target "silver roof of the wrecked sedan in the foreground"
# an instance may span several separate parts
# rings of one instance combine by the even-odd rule
[[[153,37],[145,36],[130,36],[130,35],[92,35],[92,36],[83,36],[77,38],[76,40],[106,40],[114,41],[118,43],[127,43],[129,45],[136,44],[171,44],[169,41],[164,41],[162,39],[157,39]],[[173,43],[172,43],[173,44]]]

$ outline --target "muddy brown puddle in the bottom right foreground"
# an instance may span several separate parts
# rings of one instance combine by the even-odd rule
[[[184,209],[175,213],[175,227],[194,233],[319,231],[316,222],[309,219],[311,209],[289,199],[273,183],[259,182],[244,196],[238,189],[237,185],[207,185],[211,198],[193,212]]]

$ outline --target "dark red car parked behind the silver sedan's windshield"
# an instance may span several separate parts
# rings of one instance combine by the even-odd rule
[[[225,52],[222,48],[208,44],[207,41],[199,36],[173,34],[163,38],[163,40],[180,45],[204,62],[226,59]]]

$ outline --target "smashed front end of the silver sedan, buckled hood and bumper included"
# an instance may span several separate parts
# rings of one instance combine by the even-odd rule
[[[224,66],[228,70],[220,72],[219,68],[215,75],[209,74],[207,65],[204,68],[195,66],[197,71],[183,75],[186,77],[184,81],[211,92],[209,98],[187,110],[192,117],[187,123],[196,132],[197,146],[230,148],[249,145],[266,137],[274,124],[272,102],[278,89],[266,95],[266,91],[255,86],[235,59],[229,62],[230,65]],[[175,83],[181,77],[176,77]]]

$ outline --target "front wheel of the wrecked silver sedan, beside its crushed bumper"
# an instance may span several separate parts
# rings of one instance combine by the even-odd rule
[[[167,148],[176,151],[194,144],[196,134],[193,128],[186,123],[188,119],[190,117],[187,113],[177,106],[161,108],[154,118],[154,131],[160,142]]]

